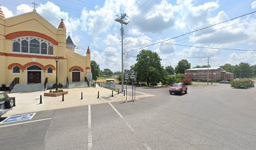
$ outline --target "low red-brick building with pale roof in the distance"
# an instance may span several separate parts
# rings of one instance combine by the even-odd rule
[[[208,68],[191,68],[186,69],[186,78],[193,81],[207,81]],[[224,71],[222,68],[209,68],[209,81],[217,82],[221,80],[233,80],[234,74]]]

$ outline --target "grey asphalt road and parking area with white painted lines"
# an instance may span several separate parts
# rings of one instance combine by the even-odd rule
[[[36,113],[0,124],[0,149],[256,149],[256,90],[228,85]],[[45,119],[45,120],[41,120]]]

